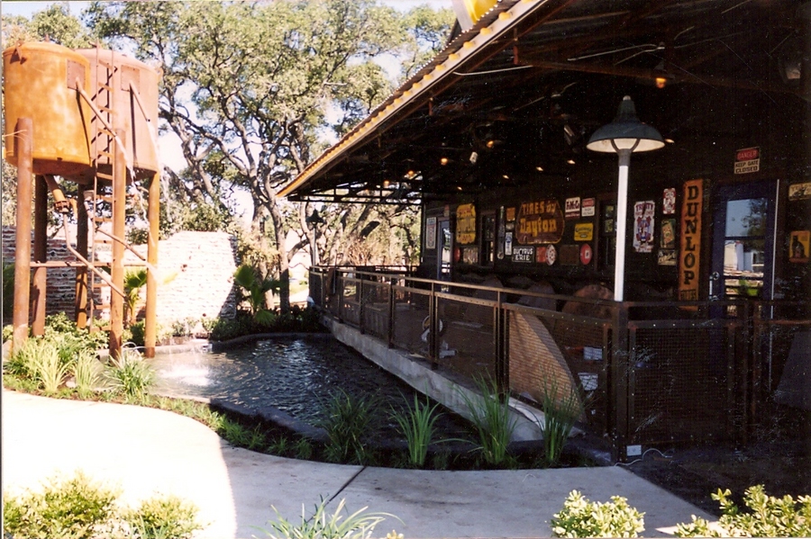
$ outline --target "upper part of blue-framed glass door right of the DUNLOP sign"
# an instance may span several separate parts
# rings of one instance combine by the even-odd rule
[[[710,300],[770,300],[776,182],[722,185],[713,203]]]

